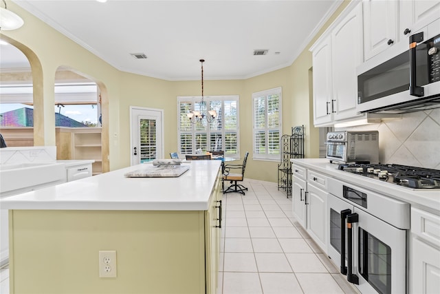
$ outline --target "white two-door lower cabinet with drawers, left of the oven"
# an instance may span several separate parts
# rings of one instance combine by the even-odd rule
[[[314,241],[327,251],[327,176],[294,166],[292,212]]]

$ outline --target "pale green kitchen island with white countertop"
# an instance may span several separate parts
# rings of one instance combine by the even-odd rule
[[[214,293],[219,254],[219,160],[177,178],[107,174],[13,196],[10,293]],[[100,277],[99,251],[116,251]]]

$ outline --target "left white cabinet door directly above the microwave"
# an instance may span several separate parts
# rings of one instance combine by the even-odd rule
[[[397,43],[398,1],[363,1],[364,59],[388,49]],[[388,41],[391,41],[388,45]]]

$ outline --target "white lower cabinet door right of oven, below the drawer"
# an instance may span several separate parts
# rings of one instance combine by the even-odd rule
[[[440,293],[440,250],[412,239],[411,293]]]

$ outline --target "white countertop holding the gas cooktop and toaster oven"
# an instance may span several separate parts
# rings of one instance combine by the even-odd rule
[[[348,173],[338,169],[338,163],[330,163],[324,158],[298,158],[290,160],[294,165],[300,165],[314,169],[331,178],[338,178],[352,185],[370,189],[385,196],[408,202],[411,206],[419,207],[433,213],[440,214],[440,190],[439,189],[411,189],[399,185],[391,185],[364,176]]]

